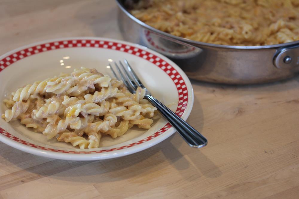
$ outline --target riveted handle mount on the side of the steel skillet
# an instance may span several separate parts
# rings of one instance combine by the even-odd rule
[[[274,55],[273,64],[279,69],[299,70],[299,46],[279,49]]]

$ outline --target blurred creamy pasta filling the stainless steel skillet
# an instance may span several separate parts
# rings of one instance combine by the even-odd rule
[[[140,0],[127,5],[164,32],[223,45],[271,45],[299,40],[298,0]]]

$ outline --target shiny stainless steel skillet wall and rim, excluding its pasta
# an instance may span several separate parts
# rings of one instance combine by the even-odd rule
[[[268,46],[193,41],[143,23],[127,11],[123,0],[116,2],[123,37],[172,59],[189,78],[225,84],[257,84],[289,78],[299,71],[299,41]]]

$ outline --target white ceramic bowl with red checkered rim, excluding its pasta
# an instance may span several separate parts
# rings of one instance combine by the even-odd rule
[[[185,73],[163,55],[143,46],[108,38],[78,37],[42,41],[20,47],[0,57],[0,101],[26,84],[74,68],[96,68],[109,74],[107,64],[126,58],[152,95],[169,106],[184,120],[193,106],[193,90]],[[0,113],[7,108],[0,105]],[[97,149],[79,149],[71,144],[47,140],[18,120],[5,122],[0,118],[0,141],[16,149],[49,158],[65,160],[99,160],[129,155],[147,149],[175,132],[167,121],[156,116],[152,127],[129,129],[112,139],[104,136]]]

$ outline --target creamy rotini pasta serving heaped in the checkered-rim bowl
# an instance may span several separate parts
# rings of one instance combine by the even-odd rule
[[[140,87],[132,94],[121,81],[81,67],[19,88],[4,100],[9,109],[2,118],[19,119],[48,139],[97,148],[102,135],[117,138],[133,125],[151,127],[157,108],[144,95]]]

